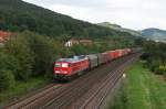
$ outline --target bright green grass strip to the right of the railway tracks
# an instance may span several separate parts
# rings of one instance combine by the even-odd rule
[[[166,83],[136,62],[110,109],[166,109]]]

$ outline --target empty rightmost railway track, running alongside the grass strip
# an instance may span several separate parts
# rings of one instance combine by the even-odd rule
[[[131,64],[135,58],[125,62],[118,68],[112,73],[111,76],[105,78],[96,91],[89,95],[89,99],[81,106],[80,109],[101,109],[107,94],[114,88],[116,83],[122,78],[123,73],[128,64]]]

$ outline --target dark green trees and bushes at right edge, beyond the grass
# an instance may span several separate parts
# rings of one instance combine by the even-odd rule
[[[146,66],[155,74],[166,77],[166,44],[162,42],[144,42],[145,53],[142,56],[146,61]]]

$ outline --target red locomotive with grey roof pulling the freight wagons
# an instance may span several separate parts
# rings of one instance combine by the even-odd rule
[[[54,79],[70,79],[73,75],[81,75],[89,66],[89,58],[85,56],[61,58],[54,64]]]

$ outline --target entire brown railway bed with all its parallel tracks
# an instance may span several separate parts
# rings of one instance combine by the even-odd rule
[[[122,77],[125,67],[136,57],[138,54],[113,61],[69,84],[54,85],[6,109],[94,109],[94,106],[97,109]]]

